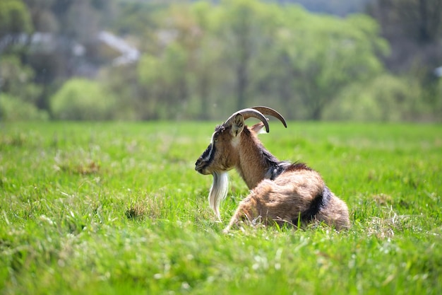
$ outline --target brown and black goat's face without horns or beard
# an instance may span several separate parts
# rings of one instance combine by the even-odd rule
[[[232,134],[232,127],[220,125],[215,128],[212,140],[207,149],[195,163],[195,170],[208,175],[221,173],[234,168],[238,157],[234,144],[236,137]]]

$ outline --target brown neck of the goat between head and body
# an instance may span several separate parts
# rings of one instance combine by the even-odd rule
[[[279,161],[253,134],[247,133],[242,135],[238,146],[239,163],[236,168],[249,189],[252,189],[261,180],[269,177],[268,171],[273,169]]]

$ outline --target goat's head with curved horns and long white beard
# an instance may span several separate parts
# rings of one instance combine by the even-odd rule
[[[237,166],[239,162],[239,144],[241,135],[244,134],[246,125],[244,121],[249,117],[260,120],[256,125],[250,127],[251,132],[258,133],[263,127],[269,132],[267,119],[264,115],[277,117],[285,127],[284,118],[275,110],[266,107],[254,107],[239,110],[231,115],[222,125],[215,127],[212,140],[207,149],[195,163],[195,170],[204,175],[213,175],[213,185],[210,188],[209,204],[220,218],[220,201],[227,195],[228,178],[227,171]]]

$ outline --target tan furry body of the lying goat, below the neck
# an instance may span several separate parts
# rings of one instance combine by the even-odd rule
[[[325,185],[321,175],[304,164],[294,164],[275,180],[261,181],[239,204],[232,221],[261,217],[265,223],[277,221],[302,224],[323,221],[336,229],[350,227],[347,205]],[[231,222],[232,224],[232,222]]]

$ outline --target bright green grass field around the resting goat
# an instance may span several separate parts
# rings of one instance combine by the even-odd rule
[[[222,234],[193,170],[215,122],[0,125],[1,294],[442,294],[442,126],[270,122],[352,229]]]

